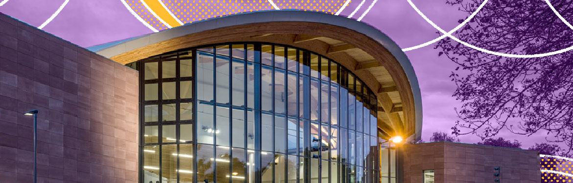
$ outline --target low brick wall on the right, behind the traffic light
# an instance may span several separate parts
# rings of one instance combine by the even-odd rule
[[[423,170],[434,170],[435,183],[494,182],[494,166],[502,182],[540,182],[536,151],[485,145],[436,142],[403,148],[404,182],[423,182]]]

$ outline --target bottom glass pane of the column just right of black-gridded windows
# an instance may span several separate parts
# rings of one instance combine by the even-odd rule
[[[214,183],[213,145],[197,145],[197,181]]]

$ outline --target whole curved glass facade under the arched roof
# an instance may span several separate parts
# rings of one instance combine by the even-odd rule
[[[375,93],[335,60],[248,42],[129,66],[141,80],[140,182],[396,180]]]

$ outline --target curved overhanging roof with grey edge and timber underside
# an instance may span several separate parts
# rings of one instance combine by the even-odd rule
[[[285,22],[291,24],[289,25],[288,23]],[[261,26],[261,25],[266,25],[266,26]],[[321,25],[326,27],[322,27],[324,29],[320,29],[317,27],[313,27],[315,25]],[[402,122],[403,126],[407,126],[408,125],[407,123],[411,123],[410,128],[412,128],[411,129],[412,132],[407,133],[407,136],[414,135],[413,137],[415,139],[420,139],[422,130],[422,97],[418,86],[418,79],[416,78],[414,68],[410,63],[410,60],[407,58],[407,56],[404,54],[401,48],[398,47],[398,45],[393,40],[388,38],[388,36],[380,32],[379,30],[375,29],[374,27],[367,25],[366,23],[363,22],[355,21],[354,19],[326,13],[319,13],[314,11],[300,11],[300,10],[254,11],[251,13],[227,15],[224,17],[211,18],[211,19],[206,19],[204,21],[188,23],[183,26],[174,27],[172,29],[156,32],[153,34],[143,35],[135,38],[89,47],[88,50],[94,51],[97,54],[115,60],[116,62],[127,64],[129,62],[135,62],[136,60],[142,58],[147,58],[148,56],[161,54],[162,51],[168,52],[177,50],[179,49],[179,47],[174,46],[176,44],[189,44],[189,45],[197,44],[198,46],[201,44],[211,43],[207,40],[195,40],[194,39],[195,37],[190,35],[203,36],[203,37],[210,35],[211,39],[213,38],[218,39],[217,37],[211,35],[220,33],[220,32],[215,33],[216,32],[215,30],[222,30],[228,27],[241,27],[241,26],[244,29],[245,27],[250,27],[250,28],[248,30],[245,29],[245,31],[236,31],[227,33],[228,35],[226,34],[225,36],[222,36],[225,39],[223,38],[221,39],[227,40],[227,38],[229,38],[230,35],[237,35],[237,36],[251,35],[250,38],[255,38],[258,36],[262,37],[271,34],[288,34],[289,32],[292,32],[293,34],[297,34],[295,35],[295,40],[305,41],[305,40],[320,39],[318,38],[319,36],[328,37],[322,39],[323,42],[331,43],[328,44],[327,50],[324,51],[324,54],[330,54],[333,53],[334,51],[338,52],[336,49],[339,48],[346,50],[351,48],[359,48],[358,50],[360,51],[363,50],[367,54],[372,55],[368,56],[370,56],[370,58],[374,58],[374,60],[367,60],[366,62],[360,62],[361,60],[359,58],[356,58],[356,56],[354,56],[355,65],[347,64],[347,68],[349,66],[351,68],[356,68],[355,69],[356,72],[359,72],[358,70],[370,70],[371,73],[368,74],[374,76],[378,81],[380,81],[379,79],[380,74],[372,73],[372,70],[375,69],[374,67],[379,66],[382,67],[380,69],[384,71],[387,70],[386,74],[389,74],[391,75],[392,78],[394,78],[396,85],[394,87],[398,88],[399,96],[401,96],[402,99],[399,103],[395,102],[393,103],[393,101],[390,100],[389,97],[387,97],[386,95],[386,98],[388,98],[387,100],[389,100],[390,103],[388,104],[388,106],[390,107],[389,108],[379,107],[380,108],[379,111],[386,111],[387,114],[390,114],[390,112],[394,112],[394,106],[399,106],[400,111],[402,110],[403,106],[405,113],[409,113],[407,115],[406,114],[403,115],[402,117],[405,120]],[[278,27],[278,28],[273,28],[273,27]],[[288,30],[280,31],[281,29],[283,30],[288,29]],[[355,36],[356,37],[365,36],[365,38],[363,38],[363,40],[357,41],[353,40],[353,39],[359,39],[355,38]],[[179,39],[178,42],[174,42],[175,39]],[[336,42],[335,39],[343,41]],[[290,43],[296,46],[295,43],[297,42],[295,40],[291,41]],[[370,43],[375,43],[377,45],[368,44],[369,43],[368,41],[372,41]],[[192,44],[189,42],[194,42],[194,43]],[[354,46],[352,45],[347,46],[346,43],[354,44]],[[172,47],[165,48],[164,47],[165,45],[171,45]],[[147,54],[147,52],[150,53]],[[352,53],[346,55],[347,56],[352,55]],[[395,66],[397,66],[398,64],[399,66],[401,66],[401,68],[396,70],[397,68],[395,68]],[[353,72],[355,70],[351,69],[351,71]],[[357,73],[355,74],[359,77],[360,75],[364,75]],[[400,75],[404,75],[405,77],[402,77],[403,78],[402,81],[397,81],[401,80]],[[364,80],[364,82],[368,81],[368,79],[364,79],[362,77],[360,78]],[[367,85],[372,89],[372,91],[379,91],[379,93],[387,92],[385,90],[387,90],[388,88],[384,87],[383,84],[379,83],[367,84]],[[378,95],[378,98],[380,105],[380,102],[384,102],[380,101],[384,100],[384,97],[380,97],[380,95]]]

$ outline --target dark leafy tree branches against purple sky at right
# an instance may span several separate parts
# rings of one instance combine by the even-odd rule
[[[473,13],[482,0],[446,0]],[[551,1],[573,20],[573,0]],[[460,23],[463,20],[460,20]],[[454,36],[485,50],[505,54],[543,54],[573,46],[573,31],[540,0],[491,0]],[[459,67],[450,78],[462,102],[456,135],[486,139],[501,129],[573,149],[573,51],[538,58],[487,54],[446,38],[434,47]]]

